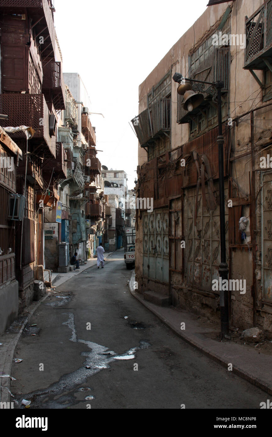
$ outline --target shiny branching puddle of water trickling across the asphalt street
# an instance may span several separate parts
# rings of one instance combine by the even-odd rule
[[[73,313],[65,312],[63,314],[66,314],[68,316],[68,320],[66,320],[66,322],[63,322],[63,325],[67,325],[71,329],[70,341],[74,343],[84,343],[91,350],[81,352],[81,355],[86,357],[86,359],[83,363],[83,366],[79,369],[73,371],[72,373],[63,375],[58,382],[53,383],[48,388],[24,394],[24,398],[29,400],[31,399],[31,406],[34,409],[63,409],[74,405],[78,402],[75,394],[79,391],[83,391],[82,388],[77,387],[86,383],[87,378],[96,375],[103,369],[110,368],[111,366],[109,364],[112,362],[115,362],[117,360],[132,360],[136,357],[137,350],[150,347],[150,344],[147,343],[147,341],[140,340],[139,346],[132,347],[129,350],[126,350],[126,352],[124,352],[123,354],[116,354],[112,350],[109,351],[108,347],[106,346],[101,346],[100,344],[94,343],[92,341],[77,339]],[[90,368],[86,368],[85,366],[90,366]],[[59,397],[59,395],[61,396]]]

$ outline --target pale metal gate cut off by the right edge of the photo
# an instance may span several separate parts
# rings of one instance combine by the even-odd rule
[[[272,301],[272,173],[262,173],[262,298]]]

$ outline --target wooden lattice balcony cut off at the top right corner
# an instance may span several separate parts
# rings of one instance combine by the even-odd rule
[[[267,0],[245,22],[245,69],[264,69],[272,56],[272,0]]]

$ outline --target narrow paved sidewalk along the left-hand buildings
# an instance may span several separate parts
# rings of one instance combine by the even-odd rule
[[[112,253],[113,252],[105,252],[104,258],[108,258]],[[68,281],[73,276],[77,276],[89,267],[96,265],[96,263],[97,259],[93,258],[88,260],[87,264],[81,266],[79,270],[68,273],[52,273],[52,287],[59,287],[63,282]],[[31,319],[33,313],[49,295],[50,293],[46,294],[46,296],[38,302],[32,302],[31,305],[29,305],[28,308],[25,308],[24,312],[18,315],[17,319],[14,320],[12,328],[10,327],[7,329],[6,333],[0,336],[0,343],[2,343],[0,344],[0,402],[14,401],[12,395],[12,375],[10,373],[14,350],[29,319]],[[3,375],[9,376],[3,378]]]

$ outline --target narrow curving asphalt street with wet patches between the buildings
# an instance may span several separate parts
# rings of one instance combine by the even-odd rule
[[[119,250],[42,302],[14,354],[16,408],[258,409],[267,394],[172,333],[130,294],[130,277]]]

